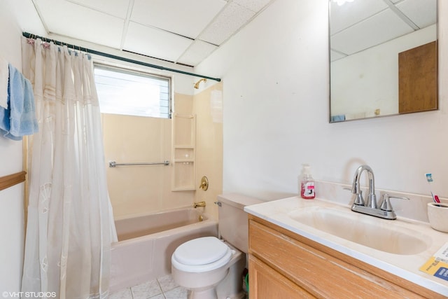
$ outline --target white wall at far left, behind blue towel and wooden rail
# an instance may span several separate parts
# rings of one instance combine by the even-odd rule
[[[0,57],[22,68],[20,29],[0,1]],[[0,137],[0,176],[22,171],[22,141]],[[23,183],[0,191],[0,291],[20,291],[24,244]]]

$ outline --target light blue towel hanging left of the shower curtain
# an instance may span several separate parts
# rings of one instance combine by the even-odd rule
[[[13,140],[38,131],[31,82],[11,64],[8,81],[8,109],[0,107],[0,134]]]

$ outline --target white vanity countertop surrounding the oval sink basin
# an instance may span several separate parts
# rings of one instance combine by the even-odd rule
[[[398,225],[398,227],[416,230],[428,240],[427,249],[421,253],[412,255],[387,253],[342,239],[327,232],[323,232],[322,230],[317,230],[316,228],[295,221],[288,216],[290,211],[314,206],[344,209],[363,217],[373,217],[353,212],[350,210],[350,207],[346,205],[344,206],[317,198],[315,200],[303,200],[298,196],[254,204],[245,207],[244,211],[269,221],[270,223],[279,225],[281,228],[285,228],[286,230],[290,230],[298,235],[302,235],[303,237],[307,237],[308,239],[328,246],[331,249],[335,249],[347,256],[362,260],[381,270],[391,272],[398,277],[412,281],[414,284],[418,284],[425,288],[429,288],[436,293],[448,296],[448,281],[433,277],[430,274],[426,274],[419,270],[422,265],[424,265],[442,246],[444,246],[445,243],[448,242],[448,233],[433,230],[430,228],[429,223],[426,222],[400,217],[396,220],[373,217],[378,221],[379,225],[384,225],[384,227],[387,228],[391,228],[391,225]]]

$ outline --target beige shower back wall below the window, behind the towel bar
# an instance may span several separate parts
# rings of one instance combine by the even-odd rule
[[[175,99],[177,112],[192,113],[193,96],[176,92]],[[172,160],[171,120],[102,114],[102,124],[106,165],[110,160],[117,163]],[[142,130],[148,127],[151,130]],[[172,191],[172,165],[106,167],[106,175],[115,218],[193,204],[193,192]]]

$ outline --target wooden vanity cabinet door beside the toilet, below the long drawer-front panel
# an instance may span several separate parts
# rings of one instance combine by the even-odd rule
[[[303,288],[249,256],[249,299],[314,298]]]

